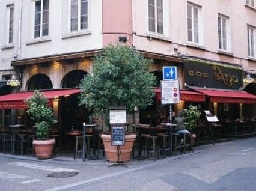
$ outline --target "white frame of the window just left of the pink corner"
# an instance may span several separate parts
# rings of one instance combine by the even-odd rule
[[[67,17],[68,18],[68,32],[69,33],[76,33],[76,32],[79,32],[79,31],[88,31],[89,29],[89,4],[90,4],[90,1],[87,0],[87,28],[84,28],[84,29],[81,29],[81,0],[78,0],[78,29],[77,30],[71,30],[71,1],[72,0],[69,0],[69,7],[68,7],[68,14],[69,16]]]

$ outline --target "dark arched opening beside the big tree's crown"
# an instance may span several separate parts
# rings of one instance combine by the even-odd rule
[[[77,88],[81,82],[81,80],[84,78],[84,76],[88,74],[84,70],[72,70],[69,73],[67,73],[62,81],[61,81],[61,87],[62,88]]]

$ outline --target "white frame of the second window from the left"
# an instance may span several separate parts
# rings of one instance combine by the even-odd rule
[[[41,1],[41,8],[40,8],[40,35],[39,37],[35,37],[35,2],[37,1]],[[49,32],[50,32],[50,0],[49,1],[49,9],[48,11],[48,32],[47,35],[43,35],[43,2],[46,0],[34,0],[33,1],[33,25],[32,25],[32,38],[45,38],[45,37],[49,37]]]

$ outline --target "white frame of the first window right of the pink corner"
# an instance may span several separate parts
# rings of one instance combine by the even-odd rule
[[[150,33],[154,33],[154,34],[157,34],[157,35],[163,35],[164,32],[165,32],[165,29],[164,29],[164,10],[163,10],[163,7],[164,7],[164,1],[165,0],[162,0],[162,7],[159,7],[157,6],[157,0],[153,0],[154,1],[154,5],[150,4],[149,0],[147,0],[147,7],[148,7],[148,17],[147,17],[147,22],[148,22],[148,32]],[[149,7],[152,6],[154,7],[154,17],[150,17],[150,9]],[[157,17],[157,9],[160,8],[162,9],[162,20],[159,20],[159,17]],[[153,19],[154,20],[154,31],[151,31],[150,30],[150,19]],[[157,28],[158,26],[158,22],[162,22],[162,32],[159,31],[159,29]]]

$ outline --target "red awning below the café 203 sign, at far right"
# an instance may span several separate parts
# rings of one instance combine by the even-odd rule
[[[210,97],[210,102],[218,103],[256,103],[256,96],[246,91],[200,89],[193,88],[195,91]]]

